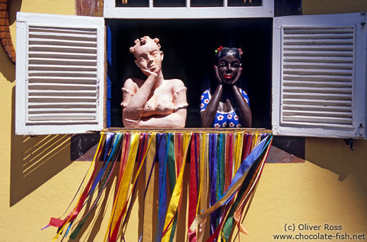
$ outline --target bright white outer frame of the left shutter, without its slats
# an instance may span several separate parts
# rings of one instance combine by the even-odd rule
[[[27,122],[28,104],[28,25],[63,28],[97,29],[97,117],[85,123],[51,123],[47,121],[32,124]],[[38,13],[18,13],[17,15],[17,65],[16,65],[16,134],[41,135],[59,133],[85,133],[104,128],[104,18],[85,16],[61,16]],[[44,123],[44,124],[42,124]]]

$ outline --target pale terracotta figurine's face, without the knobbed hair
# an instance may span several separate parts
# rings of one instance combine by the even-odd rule
[[[163,52],[154,41],[147,41],[135,49],[136,64],[145,70],[159,72],[162,69]]]

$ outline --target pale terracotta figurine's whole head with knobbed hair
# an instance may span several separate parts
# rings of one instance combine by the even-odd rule
[[[160,40],[149,36],[134,41],[130,52],[135,56],[135,63],[139,68],[158,73],[162,69],[163,52],[160,51]]]

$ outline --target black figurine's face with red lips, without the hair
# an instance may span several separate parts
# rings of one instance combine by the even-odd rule
[[[218,71],[222,83],[234,84],[232,81],[236,80],[236,76],[239,74],[239,68],[241,68],[241,61],[232,54],[219,59]]]

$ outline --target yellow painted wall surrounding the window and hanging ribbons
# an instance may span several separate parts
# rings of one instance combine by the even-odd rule
[[[364,0],[303,0],[304,14],[363,10]],[[11,0],[14,42],[16,11],[75,14],[74,0]],[[64,213],[90,162],[70,161],[69,135],[14,135],[14,86],[15,67],[0,49],[0,241],[51,241],[56,229],[40,228],[49,217]],[[351,152],[343,140],[306,138],[306,159],[304,164],[265,165],[245,220],[250,236],[241,241],[273,241],[273,234],[285,234],[286,223],[336,224],[343,226],[343,234],[367,233],[367,142],[354,141]],[[103,201],[110,204],[111,198]],[[138,241],[137,211],[131,216],[129,242]],[[82,241],[102,241],[106,219],[101,224],[103,214],[95,217],[98,221]]]

